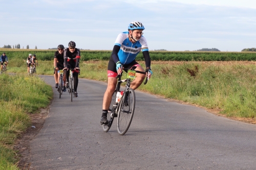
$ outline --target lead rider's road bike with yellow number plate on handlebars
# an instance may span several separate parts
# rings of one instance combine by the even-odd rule
[[[130,85],[131,82],[135,79],[136,72],[144,75],[146,74],[146,72],[135,70],[135,68],[136,66],[133,66],[131,69],[124,68],[124,70],[127,71],[127,78],[125,80],[121,80],[122,74],[116,77],[118,78],[116,90],[112,95],[109,111],[106,116],[109,124],[102,125],[104,132],[108,132],[110,130],[114,117],[117,117],[117,132],[119,135],[124,135],[132,123],[136,99],[135,92],[132,88],[130,88]],[[126,82],[126,85],[121,98],[119,98],[119,96],[117,98],[117,94],[120,92],[120,86],[122,82]],[[147,78],[144,84],[146,83]]]

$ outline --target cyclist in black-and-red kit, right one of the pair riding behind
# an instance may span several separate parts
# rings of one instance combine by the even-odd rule
[[[78,73],[79,73],[79,60],[80,60],[80,50],[76,48],[76,43],[74,41],[69,42],[69,48],[64,51],[64,64],[65,64],[65,75],[67,82],[65,84],[66,88],[69,87],[69,69],[73,70],[74,77],[74,91],[75,97],[78,97],[77,86],[78,86]]]

